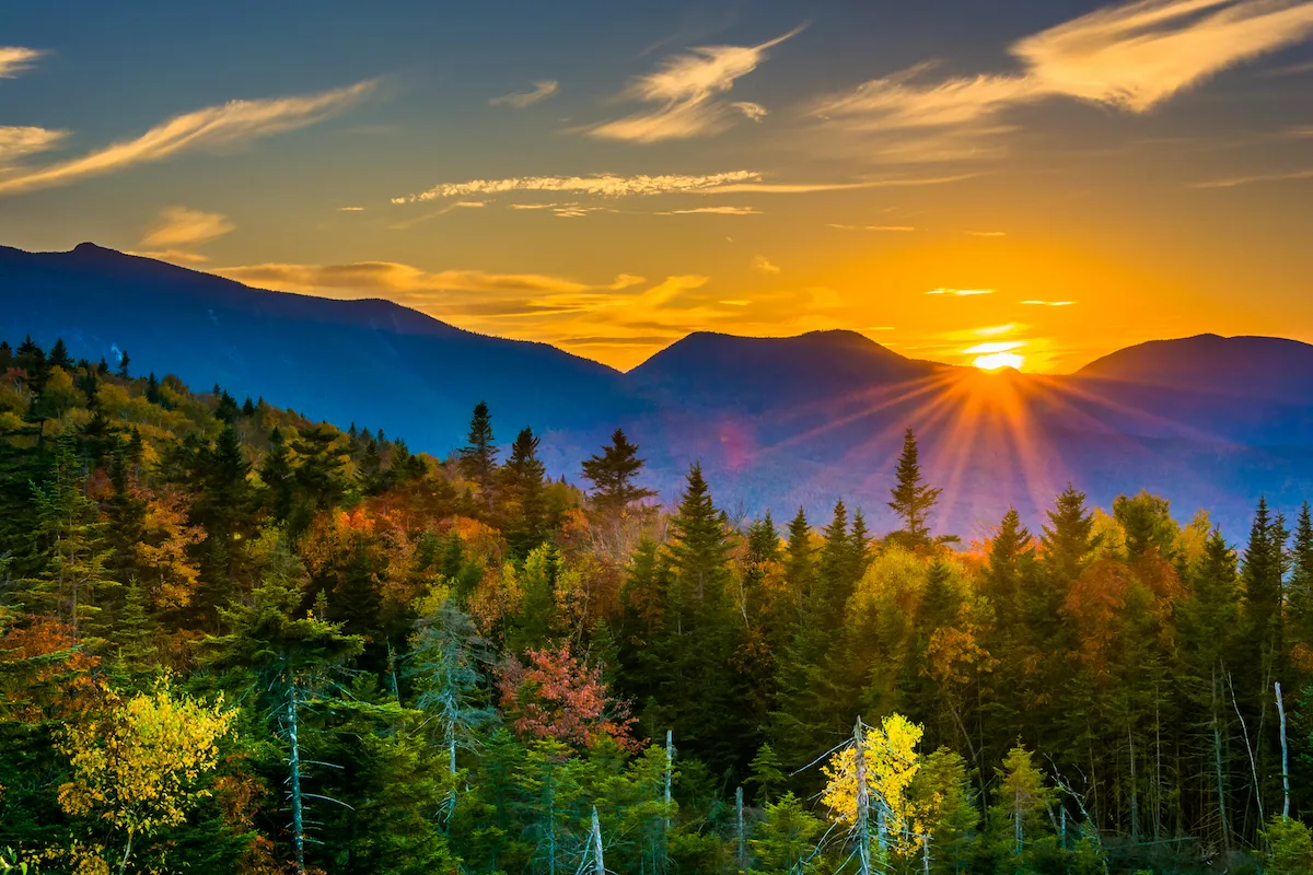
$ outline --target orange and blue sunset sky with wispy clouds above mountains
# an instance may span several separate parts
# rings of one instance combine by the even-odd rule
[[[1313,0],[11,5],[0,244],[84,240],[620,369],[1313,342]]]

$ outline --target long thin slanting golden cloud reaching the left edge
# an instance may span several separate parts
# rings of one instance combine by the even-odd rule
[[[46,167],[18,168],[0,177],[0,195],[68,185],[137,164],[161,161],[198,148],[234,147],[261,136],[315,125],[369,97],[377,80],[347,88],[270,100],[234,100],[171,118],[133,140],[113,143],[79,159]]]

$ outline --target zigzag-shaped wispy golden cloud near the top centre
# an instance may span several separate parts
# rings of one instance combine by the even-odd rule
[[[687,54],[672,55],[655,72],[634,79],[620,94],[622,100],[656,104],[658,109],[605,122],[587,132],[601,139],[655,143],[718,134],[730,126],[731,112],[759,121],[765,115],[760,105],[726,102],[718,96],[756,70],[769,49],[797,35],[804,28],[794,28],[756,46],[700,46]]]

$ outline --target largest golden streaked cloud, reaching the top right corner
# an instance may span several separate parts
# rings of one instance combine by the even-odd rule
[[[819,117],[859,131],[997,125],[1004,109],[1052,97],[1146,113],[1209,76],[1313,33],[1309,0],[1140,0],[1015,42],[1018,73],[932,79],[922,63],[829,97]],[[993,127],[990,132],[1007,130]]]

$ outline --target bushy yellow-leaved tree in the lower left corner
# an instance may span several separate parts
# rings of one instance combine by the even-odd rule
[[[114,703],[105,716],[68,727],[59,749],[72,781],[59,788],[60,807],[108,829],[105,850],[118,872],[127,871],[142,840],[181,825],[210,795],[204,777],[214,770],[218,741],[235,715],[222,701],[207,706],[163,681]]]

